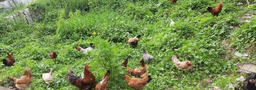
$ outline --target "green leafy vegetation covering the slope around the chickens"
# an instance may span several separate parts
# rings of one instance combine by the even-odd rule
[[[145,89],[205,89],[214,85],[224,89],[241,76],[236,72],[238,62],[256,64],[256,18],[249,23],[239,20],[244,14],[255,14],[255,2],[250,0],[248,6],[246,0],[223,0],[219,17],[212,17],[206,8],[216,7],[219,1],[178,0],[173,5],[168,0],[39,0],[27,6],[38,9],[42,16],[33,25],[9,22],[6,14],[0,16],[0,57],[6,58],[9,51],[16,59],[14,67],[0,66],[0,85],[9,85],[8,77],[20,77],[29,67],[33,82],[28,89],[77,89],[65,74],[72,68],[80,76],[84,65],[89,65],[96,82],[106,70],[113,72],[108,89],[131,89],[121,75],[126,69],[120,63],[130,55],[127,67],[139,67],[145,48],[155,57],[148,63],[153,80]],[[175,21],[173,26],[169,26],[170,19]],[[126,36],[140,33],[144,36],[137,47],[127,44]],[[76,50],[77,45],[87,47],[90,43],[94,43],[94,51],[83,54]],[[58,54],[56,59],[48,57],[52,50]],[[248,52],[248,58],[233,58],[237,50]],[[191,60],[194,69],[178,70],[172,55],[181,61]],[[41,74],[50,68],[54,69],[54,82],[48,85]],[[208,84],[207,78],[214,82]]]

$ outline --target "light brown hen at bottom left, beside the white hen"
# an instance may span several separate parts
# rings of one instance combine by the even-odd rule
[[[30,68],[27,68],[24,72],[24,75],[19,79],[15,77],[10,77],[10,81],[12,81],[15,86],[19,89],[26,89],[30,83],[32,83],[32,74],[30,73]]]

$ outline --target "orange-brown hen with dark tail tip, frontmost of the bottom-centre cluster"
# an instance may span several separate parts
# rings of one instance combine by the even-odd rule
[[[123,77],[125,78],[126,83],[134,89],[143,89],[145,85],[152,80],[151,76],[147,76],[147,73],[144,73],[141,75],[141,78],[132,78],[130,76],[127,76],[123,74]]]

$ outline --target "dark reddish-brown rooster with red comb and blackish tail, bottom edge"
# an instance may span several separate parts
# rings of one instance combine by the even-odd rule
[[[75,85],[79,89],[91,89],[92,85],[95,83],[95,77],[93,74],[89,71],[89,66],[86,65],[84,67],[83,77],[79,79],[73,72],[73,70],[70,68],[69,73],[66,74],[66,77],[68,77],[69,82],[72,85]]]

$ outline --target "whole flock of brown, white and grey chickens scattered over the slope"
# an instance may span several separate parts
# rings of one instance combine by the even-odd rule
[[[175,4],[177,0],[170,0],[170,2]],[[217,8],[208,7],[207,10],[213,16],[218,16],[222,10],[222,6],[223,6],[223,3],[221,1]],[[130,45],[137,46],[139,42],[139,38],[141,36],[143,36],[143,34],[139,34],[134,38],[126,37],[126,40]],[[92,51],[94,49],[94,46],[93,46],[93,43],[91,43],[88,48],[84,49],[78,45],[77,49],[83,53],[88,53],[89,51]],[[145,62],[150,62],[152,59],[154,59],[154,57],[148,54],[144,48],[142,49],[142,52],[143,52],[143,59],[140,61],[141,67],[138,67],[135,69],[129,68],[127,70],[128,74],[131,74],[132,76],[135,76],[135,77],[132,78],[126,74],[123,74],[123,77],[125,78],[127,85],[129,85],[131,88],[134,88],[134,89],[143,89],[144,86],[152,80],[151,76],[148,75],[147,65],[145,64]],[[8,59],[5,59],[5,58],[2,59],[3,64],[6,66],[14,66],[14,63],[15,63],[14,57],[8,52],[6,52],[6,54],[8,55]],[[52,51],[49,53],[49,57],[56,58],[57,53]],[[193,63],[191,61],[180,62],[177,56],[175,55],[173,55],[172,61],[175,64],[175,66],[180,70],[189,71],[193,69]],[[128,57],[125,57],[121,66],[126,68],[127,63],[128,63]],[[95,77],[93,76],[93,73],[89,70],[89,65],[86,65],[84,67],[84,72],[81,74],[81,76],[82,76],[81,78],[78,78],[74,74],[71,68],[69,68],[69,71],[66,74],[66,77],[68,78],[69,82],[72,85],[75,85],[79,89],[92,89],[92,85],[95,84]],[[110,70],[106,71],[106,74],[102,77],[102,80],[96,84],[95,89],[105,90],[109,83],[109,76],[110,76]],[[51,82],[53,82],[53,69],[50,69],[49,73],[43,73],[42,79],[47,84],[50,84]],[[32,83],[32,74],[30,72],[30,68],[27,68],[24,72],[24,75],[19,79],[15,77],[10,77],[9,80],[12,81],[17,88],[26,89],[29,86],[29,84]],[[256,82],[256,74],[246,79],[244,89],[255,90],[256,89],[255,82]]]

